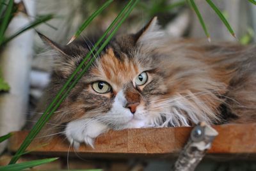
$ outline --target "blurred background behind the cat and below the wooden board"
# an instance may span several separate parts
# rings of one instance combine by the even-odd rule
[[[256,40],[256,6],[245,0],[212,0],[228,20],[236,38],[227,30],[218,15],[204,0],[195,3],[204,18],[212,41],[234,41],[242,45],[252,44]],[[37,31],[51,40],[67,44],[78,27],[93,11],[105,1],[94,0],[24,0],[28,15],[17,13],[6,34],[14,33],[35,17],[53,14],[54,18],[36,27]],[[125,0],[114,1],[92,24],[85,29],[81,38],[102,33],[115,19],[116,15],[127,3]],[[157,16],[159,25],[170,38],[201,38],[206,39],[202,26],[195,12],[186,1],[182,0],[141,0],[129,18],[120,27],[119,33],[136,33],[148,20]],[[0,51],[0,73],[9,91],[0,90],[0,136],[10,131],[20,130],[33,115],[36,103],[45,86],[49,82],[52,70],[51,56],[45,56],[47,48],[33,29],[10,41]],[[10,56],[13,57],[10,57]],[[0,78],[1,78],[0,77]],[[0,152],[6,144],[0,144]],[[8,158],[9,154],[6,154]],[[65,160],[66,161],[66,160]],[[60,168],[65,168],[65,161]],[[198,170],[256,170],[252,161],[236,161],[225,159],[225,163],[207,160],[200,164]],[[0,160],[1,162],[1,160]],[[106,170],[170,170],[170,160],[87,160],[77,156],[70,159],[70,168],[106,168]]]

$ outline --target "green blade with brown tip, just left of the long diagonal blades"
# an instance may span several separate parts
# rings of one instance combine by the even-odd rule
[[[74,41],[81,33],[82,31],[92,22],[92,20],[97,17],[97,15],[99,15],[105,8],[107,8],[109,6],[109,4],[111,4],[113,2],[113,0],[108,0],[106,3],[104,3],[99,10],[95,11],[87,20],[84,21],[84,23],[79,27],[79,29],[77,30],[77,32],[74,34],[74,36],[72,36],[72,38],[68,41],[67,45],[69,43],[71,43],[72,41]]]

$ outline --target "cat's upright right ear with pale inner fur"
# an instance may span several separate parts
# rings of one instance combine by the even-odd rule
[[[134,34],[136,43],[142,45],[155,44],[159,43],[164,37],[163,30],[160,29],[160,26],[157,24],[157,17],[148,22],[148,24],[143,27],[138,33]]]

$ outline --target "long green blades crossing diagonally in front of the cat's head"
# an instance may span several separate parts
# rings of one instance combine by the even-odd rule
[[[18,159],[19,159],[19,154],[21,154],[22,152],[24,152],[26,150],[26,148],[28,147],[28,145],[31,143],[31,141],[33,140],[33,138],[35,138],[35,136],[38,134],[38,132],[42,129],[42,127],[44,126],[44,124],[49,120],[49,118],[51,117],[51,115],[54,113],[54,111],[60,106],[60,103],[66,98],[66,96],[68,95],[69,91],[72,89],[72,87],[74,87],[74,85],[76,85],[76,83],[78,82],[79,78],[81,78],[83,76],[83,74],[85,73],[85,71],[88,69],[89,65],[87,64],[86,67],[84,68],[84,70],[81,72],[83,74],[80,73],[79,77],[76,77],[76,74],[78,73],[78,71],[80,71],[83,66],[84,63],[86,63],[86,61],[89,59],[89,57],[92,55],[92,52],[97,49],[97,46],[100,45],[101,41],[104,40],[105,36],[109,33],[109,31],[111,31],[111,29],[113,29],[113,27],[115,26],[115,24],[118,22],[118,20],[122,17],[122,15],[124,15],[125,11],[127,10],[127,13],[131,13],[131,9],[134,8],[134,5],[136,3],[138,3],[139,0],[137,0],[133,5],[133,0],[129,1],[129,3],[125,6],[125,8],[120,11],[120,13],[118,14],[118,16],[116,17],[115,20],[113,20],[113,22],[111,23],[111,25],[108,27],[108,29],[106,30],[106,32],[103,34],[103,36],[100,38],[99,41],[97,41],[97,43],[95,43],[95,46],[93,46],[92,51],[90,51],[87,56],[83,59],[83,61],[81,62],[81,64],[79,64],[79,66],[76,68],[76,70],[72,73],[72,75],[70,76],[70,78],[68,78],[67,82],[63,85],[63,87],[60,89],[60,91],[58,91],[58,94],[56,95],[56,97],[54,98],[54,100],[52,100],[52,103],[49,105],[49,107],[47,107],[47,109],[45,110],[44,114],[40,117],[40,119],[38,119],[38,122],[36,122],[35,126],[33,126],[32,130],[30,131],[30,133],[28,134],[28,136],[25,138],[24,142],[20,145],[18,151],[15,154],[15,157],[12,158],[12,160],[10,161],[10,164],[15,163]],[[132,8],[131,8],[132,7]],[[125,19],[126,19],[127,15],[125,15]],[[119,27],[120,25],[118,25]],[[116,26],[116,28],[118,28]],[[116,30],[115,28],[115,30]],[[111,34],[112,35],[112,34]],[[109,41],[109,39],[107,39],[106,41]],[[105,41],[105,42],[106,42]],[[103,43],[104,45],[106,43]],[[106,46],[106,45],[105,45]],[[102,47],[100,48],[101,50],[103,49]],[[97,53],[99,54],[99,50],[97,51]],[[94,59],[95,57],[93,57]],[[90,63],[92,64],[92,62]],[[76,80],[74,82],[72,82],[72,80],[76,77]],[[78,78],[78,79],[77,79]],[[70,85],[70,83],[72,82],[72,84]],[[70,86],[69,86],[70,85]]]

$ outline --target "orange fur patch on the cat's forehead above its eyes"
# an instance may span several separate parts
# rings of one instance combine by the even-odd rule
[[[116,85],[117,89],[131,82],[140,73],[140,66],[134,57],[122,55],[122,59],[115,56],[113,48],[109,47],[106,53],[97,60],[97,64],[91,70],[92,74],[109,84]]]

